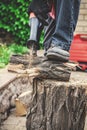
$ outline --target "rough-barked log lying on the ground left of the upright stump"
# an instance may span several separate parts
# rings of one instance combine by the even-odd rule
[[[10,110],[16,107],[16,99],[21,100],[21,95],[27,91],[32,91],[28,76],[16,77],[14,81],[11,81],[4,89],[0,90],[0,123],[7,119]],[[30,95],[25,96],[23,99],[24,104],[27,105]],[[17,115],[16,110],[15,115]]]

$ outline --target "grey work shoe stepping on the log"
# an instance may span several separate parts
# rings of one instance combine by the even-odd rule
[[[69,60],[69,52],[56,46],[49,48],[46,56],[48,59],[51,60],[59,60],[59,61]]]

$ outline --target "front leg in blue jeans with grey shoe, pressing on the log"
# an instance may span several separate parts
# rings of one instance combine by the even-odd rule
[[[48,58],[53,58],[55,56],[53,53],[57,54],[58,52],[59,59],[69,59],[69,53],[67,51],[69,51],[73,39],[79,6],[80,0],[56,0],[56,27],[51,41],[51,46],[53,48],[49,49],[47,52]]]

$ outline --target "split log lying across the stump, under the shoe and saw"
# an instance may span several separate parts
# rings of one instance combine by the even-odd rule
[[[15,62],[15,64],[20,63],[22,68],[17,69],[14,64],[12,64],[9,66],[8,71],[21,74],[27,73],[29,77],[69,81],[71,71],[76,70],[78,66],[78,63],[53,61],[48,60],[46,57],[28,56],[28,61],[27,59],[23,59],[24,57],[21,56],[18,58],[17,56],[12,56],[10,62]]]

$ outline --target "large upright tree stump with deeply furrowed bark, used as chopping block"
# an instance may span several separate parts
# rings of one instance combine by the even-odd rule
[[[74,72],[69,82],[34,78],[27,130],[84,130],[87,80],[78,77]]]

